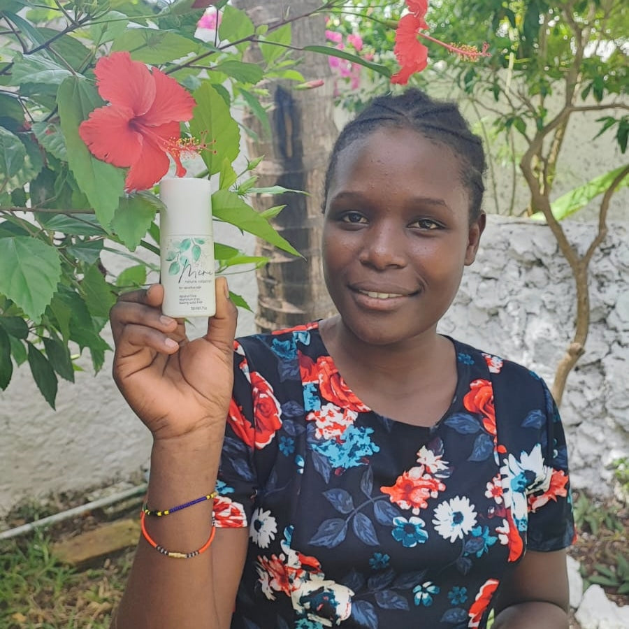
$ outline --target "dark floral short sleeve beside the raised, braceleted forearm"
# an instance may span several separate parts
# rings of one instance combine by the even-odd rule
[[[214,501],[215,526],[219,528],[248,526],[257,488],[252,384],[247,356],[238,341],[234,342],[233,359],[233,393]]]

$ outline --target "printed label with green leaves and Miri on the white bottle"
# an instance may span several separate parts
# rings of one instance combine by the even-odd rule
[[[175,302],[191,315],[208,310],[214,300],[215,262],[212,236],[172,236],[166,238],[162,247],[162,274],[168,275],[168,284],[176,282],[178,285]]]

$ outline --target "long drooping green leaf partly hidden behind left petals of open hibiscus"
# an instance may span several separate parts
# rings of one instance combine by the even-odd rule
[[[124,172],[92,156],[78,134],[78,127],[102,101],[87,80],[71,76],[57,94],[61,128],[66,138],[68,164],[85,192],[99,222],[107,227],[123,195]]]

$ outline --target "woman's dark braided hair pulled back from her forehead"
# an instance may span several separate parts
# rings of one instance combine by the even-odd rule
[[[324,210],[340,152],[355,140],[388,126],[412,129],[452,150],[461,164],[461,182],[470,195],[470,222],[477,219],[485,191],[482,142],[470,131],[456,103],[433,100],[419,89],[408,89],[398,96],[378,96],[341,131],[326,171]]]

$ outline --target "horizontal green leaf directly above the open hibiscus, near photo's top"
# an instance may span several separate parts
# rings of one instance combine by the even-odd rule
[[[145,64],[172,63],[175,59],[198,52],[198,42],[171,31],[128,29],[117,37],[112,51],[128,50],[131,59]]]

